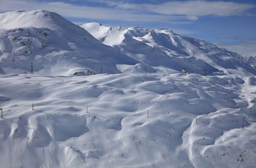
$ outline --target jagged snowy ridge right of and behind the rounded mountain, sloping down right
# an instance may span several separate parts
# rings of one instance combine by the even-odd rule
[[[103,29],[104,26],[97,23],[80,26],[104,44],[156,69],[163,66],[178,71],[186,68],[199,74],[205,70],[207,74],[246,74],[248,71],[255,74],[255,69],[242,62],[241,55],[203,40],[179,36],[172,30],[130,27],[118,31],[111,27]]]

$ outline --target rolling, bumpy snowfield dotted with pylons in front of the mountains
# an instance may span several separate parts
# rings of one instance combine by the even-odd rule
[[[255,81],[182,73],[1,75],[1,166],[254,166]]]

